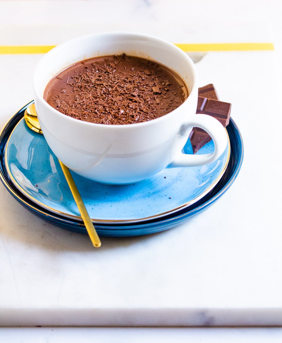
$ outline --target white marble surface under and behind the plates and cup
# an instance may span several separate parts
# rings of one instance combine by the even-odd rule
[[[87,236],[43,222],[0,185],[0,325],[282,324],[280,2],[228,8],[224,2],[220,9],[221,3],[0,1],[0,45],[55,45],[85,30],[130,29],[134,22],[136,31],[174,43],[270,41],[277,47],[212,52],[196,64],[200,85],[214,83],[232,103],[245,157],[228,192],[183,225],[151,236],[102,238],[94,250]],[[39,58],[0,55],[1,127],[32,100]]]

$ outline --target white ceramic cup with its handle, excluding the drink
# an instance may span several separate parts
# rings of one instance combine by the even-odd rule
[[[159,62],[176,72],[189,92],[185,102],[150,121],[105,125],[68,117],[44,100],[47,83],[67,66],[87,58],[123,53]],[[51,150],[71,170],[91,180],[131,184],[167,167],[205,165],[215,161],[227,144],[226,131],[218,120],[196,115],[198,76],[191,59],[175,45],[152,36],[112,32],[72,39],[40,60],[33,87],[40,126]],[[181,152],[194,126],[212,137],[215,146],[212,154]]]

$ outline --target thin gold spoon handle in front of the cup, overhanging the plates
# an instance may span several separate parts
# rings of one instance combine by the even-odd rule
[[[64,177],[66,178],[67,182],[68,182],[68,185],[70,187],[70,190],[71,190],[71,193],[72,193],[72,196],[74,198],[74,201],[75,203],[77,204],[78,206],[78,209],[79,209],[79,212],[80,212],[80,215],[82,217],[82,220],[84,222],[84,225],[86,227],[86,230],[89,234],[89,237],[92,241],[92,244],[94,247],[98,248],[98,247],[101,247],[101,241],[97,235],[97,232],[95,230],[95,227],[89,217],[89,214],[86,210],[86,207],[83,203],[83,200],[79,194],[79,191],[77,189],[77,186],[75,185],[74,183],[74,180],[71,176],[71,173],[69,171],[69,168],[67,166],[65,166],[60,160],[59,160],[59,163],[60,163],[60,166],[62,168],[62,171],[63,171],[63,174],[64,174]]]

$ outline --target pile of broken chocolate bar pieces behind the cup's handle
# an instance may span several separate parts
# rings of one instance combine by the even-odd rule
[[[226,127],[229,123],[230,112],[231,104],[218,100],[218,95],[213,84],[199,88],[196,113],[210,115]],[[210,135],[198,127],[192,129],[189,138],[194,154],[211,140]]]

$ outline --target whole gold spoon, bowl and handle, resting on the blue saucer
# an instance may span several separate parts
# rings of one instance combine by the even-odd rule
[[[34,104],[27,107],[27,109],[24,112],[24,119],[25,119],[27,126],[30,129],[32,129],[33,131],[35,131],[37,133],[42,133]],[[64,177],[66,178],[66,180],[68,182],[72,196],[74,198],[74,201],[78,206],[80,215],[82,217],[82,220],[83,220],[83,223],[86,227],[88,235],[89,235],[89,237],[90,237],[95,248],[101,247],[101,241],[97,235],[95,227],[94,227],[94,225],[93,225],[93,223],[89,217],[89,214],[85,208],[83,200],[82,200],[82,198],[79,194],[79,191],[77,189],[77,186],[75,185],[75,182],[71,176],[69,168],[67,166],[65,166],[60,160],[58,160],[58,161],[59,161],[60,166],[62,168]]]

